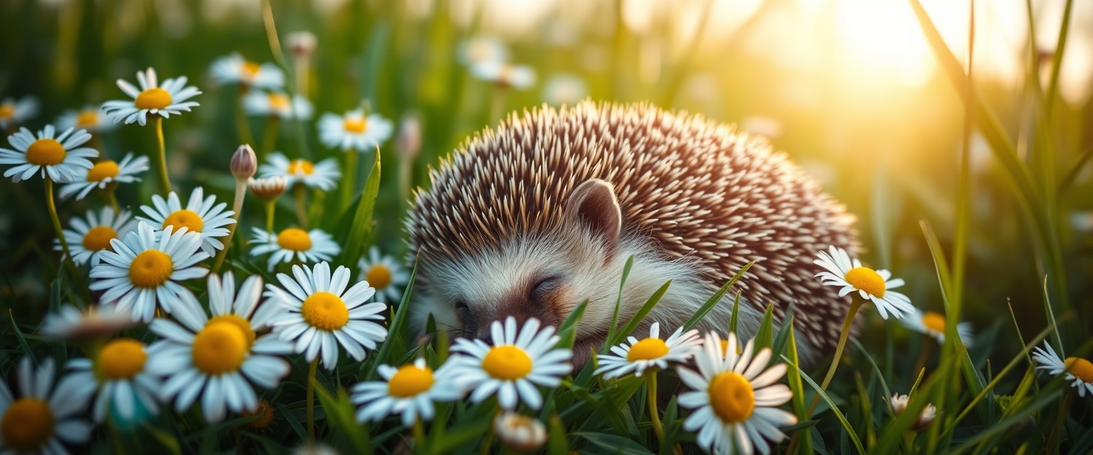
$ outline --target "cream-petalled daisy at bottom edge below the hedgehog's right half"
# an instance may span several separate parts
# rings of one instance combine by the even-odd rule
[[[766,454],[771,451],[767,440],[786,439],[778,427],[797,423],[796,416],[775,407],[794,396],[789,387],[777,383],[786,374],[786,364],[766,368],[771,349],[752,356],[753,342],[738,356],[736,334],[729,334],[726,351],[717,333],[710,332],[695,355],[698,372],[677,367],[680,380],[692,391],[681,394],[679,404],[694,409],[683,429],[697,431],[697,444],[712,452],[751,454],[757,448]]]

